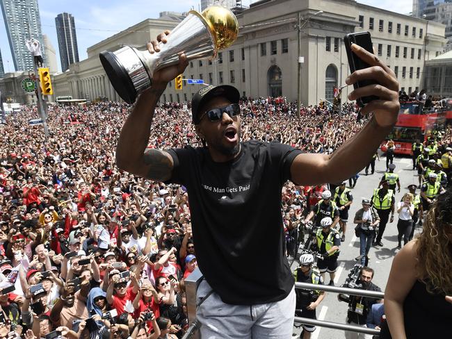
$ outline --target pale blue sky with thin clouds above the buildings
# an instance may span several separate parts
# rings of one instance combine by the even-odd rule
[[[244,5],[248,5],[250,2],[254,1],[243,0]],[[360,0],[358,2],[398,13],[406,14],[412,10],[412,0]],[[39,0],[39,7],[42,33],[49,35],[56,50],[58,70],[60,71],[60,56],[55,28],[55,17],[58,13],[67,12],[74,16],[79,57],[80,60],[83,60],[87,57],[86,49],[88,47],[125,28],[149,17],[159,17],[159,13],[166,10],[186,12],[192,7],[197,10],[199,3],[200,0]],[[11,58],[3,16],[0,16],[0,51],[3,56],[5,72],[13,72],[13,59]]]

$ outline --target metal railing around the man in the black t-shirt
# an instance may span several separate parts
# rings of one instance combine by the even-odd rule
[[[202,273],[197,268],[192,274],[190,274],[185,280],[186,287],[186,299],[187,299],[187,311],[188,311],[188,330],[186,331],[184,337],[182,339],[201,339],[200,333],[198,331],[199,323],[196,320],[196,290],[197,286],[202,281]],[[355,295],[358,297],[368,297],[375,299],[382,299],[385,296],[384,292],[376,292],[370,290],[360,290],[353,288],[344,288],[337,286],[328,286],[328,285],[316,285],[313,283],[295,283],[295,288],[302,288],[303,290],[321,290],[325,292],[333,292],[333,293],[344,293],[346,295]],[[295,322],[302,324],[309,324],[314,326],[327,327],[330,329],[339,329],[343,331],[353,331],[357,333],[365,333],[371,335],[378,335],[380,333],[377,329],[369,329],[366,327],[355,326],[350,324],[341,324],[338,322],[328,322],[325,320],[314,320],[308,319],[305,317],[295,317]]]

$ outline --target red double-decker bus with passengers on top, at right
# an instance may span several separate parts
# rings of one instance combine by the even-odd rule
[[[422,102],[406,101],[401,103],[396,126],[387,136],[387,140],[394,141],[395,154],[411,155],[413,142],[423,142],[432,131],[442,129],[444,122],[443,110],[424,110]],[[380,147],[384,152],[387,151],[387,140],[382,142]]]

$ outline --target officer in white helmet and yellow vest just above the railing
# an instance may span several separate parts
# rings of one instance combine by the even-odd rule
[[[330,273],[329,285],[334,286],[341,238],[339,237],[339,232],[332,229],[330,217],[324,217],[320,223],[322,228],[317,230],[316,238],[318,251],[322,254],[323,259],[318,259],[317,266],[323,276],[323,280],[325,280],[325,272],[328,271]]]

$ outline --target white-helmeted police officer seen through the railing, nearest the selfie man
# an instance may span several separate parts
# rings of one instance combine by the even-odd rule
[[[300,256],[300,266],[297,267],[293,276],[299,283],[314,283],[323,285],[323,278],[318,270],[312,268],[314,263],[314,256],[309,253],[302,254]],[[296,310],[295,315],[297,317],[306,317],[309,319],[317,319],[316,308],[321,303],[326,293],[318,290],[303,290],[297,288],[296,292]],[[300,334],[300,338],[309,339],[311,333],[316,330],[316,326],[303,324],[303,331]]]

